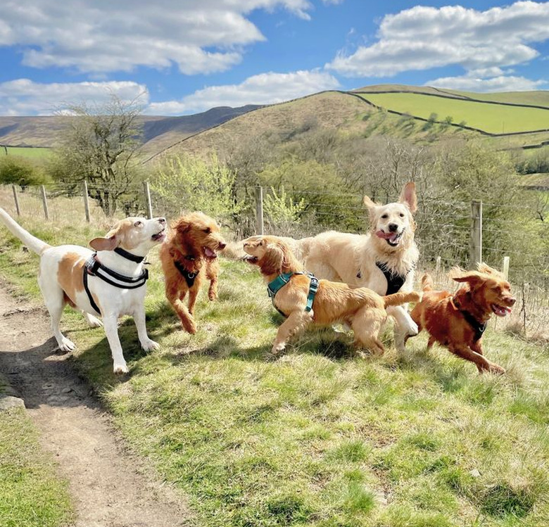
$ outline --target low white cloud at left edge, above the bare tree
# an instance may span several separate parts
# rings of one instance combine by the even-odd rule
[[[137,82],[66,82],[41,84],[28,79],[0,83],[0,115],[51,115],[70,104],[101,105],[115,94],[122,101],[149,102]]]

